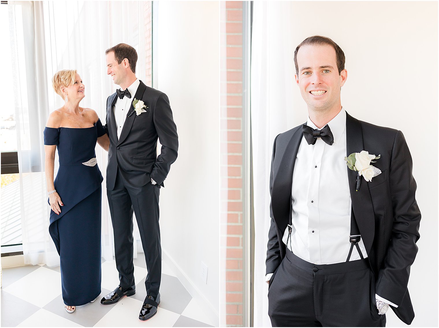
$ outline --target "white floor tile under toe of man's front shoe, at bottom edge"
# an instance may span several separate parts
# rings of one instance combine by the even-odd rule
[[[139,320],[143,302],[124,297],[94,327],[172,327],[180,314],[158,307],[157,314],[147,321]]]

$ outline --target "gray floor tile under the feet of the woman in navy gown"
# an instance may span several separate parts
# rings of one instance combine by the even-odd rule
[[[68,313],[66,310],[64,310],[64,301],[62,300],[61,295],[48,303],[45,307],[43,307],[43,309],[57,314],[60,317],[64,317],[70,321],[76,322],[84,327],[93,327],[97,321],[101,320],[101,318],[104,317],[104,315],[115,306],[115,304],[101,304],[101,298],[110,292],[111,290],[102,288],[101,295],[97,296],[94,303],[88,303],[76,307],[76,311],[73,313]]]

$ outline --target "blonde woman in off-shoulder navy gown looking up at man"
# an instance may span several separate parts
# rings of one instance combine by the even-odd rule
[[[76,70],[62,70],[52,85],[64,99],[44,129],[45,172],[50,204],[49,233],[60,256],[65,310],[101,293],[101,183],[94,148],[108,149],[108,136],[93,109],[79,107],[84,85]],[[59,169],[54,180],[55,150]]]

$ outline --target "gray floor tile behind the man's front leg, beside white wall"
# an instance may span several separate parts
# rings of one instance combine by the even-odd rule
[[[136,284],[136,294],[131,297],[142,302],[145,300],[145,278]],[[191,294],[184,288],[178,278],[162,274],[162,282],[160,283],[160,305],[158,307],[182,314],[191,299]]]

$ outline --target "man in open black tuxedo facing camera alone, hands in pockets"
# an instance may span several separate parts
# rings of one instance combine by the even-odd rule
[[[309,37],[294,60],[309,119],[273,145],[266,258],[273,327],[383,327],[389,306],[410,324],[407,283],[421,213],[407,143],[401,131],[342,109],[347,71],[334,41]]]

